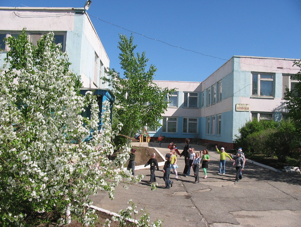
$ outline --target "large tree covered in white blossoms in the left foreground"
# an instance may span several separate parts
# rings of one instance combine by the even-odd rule
[[[109,104],[98,133],[98,104],[92,92],[79,95],[79,78],[68,69],[67,54],[53,43],[53,33],[37,47],[25,30],[7,42],[11,48],[0,69],[0,225],[27,226],[33,213],[56,211],[82,223],[96,217],[88,195],[114,188],[130,171],[124,147],[112,161]],[[81,113],[91,107],[91,117]],[[89,143],[82,142],[94,131]],[[77,141],[76,144],[68,143]],[[131,181],[137,182],[143,176]],[[108,180],[110,179],[110,180]]]

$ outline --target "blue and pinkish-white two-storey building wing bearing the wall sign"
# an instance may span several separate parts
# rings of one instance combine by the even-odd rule
[[[162,127],[151,137],[201,139],[233,148],[238,129],[250,120],[280,121],[287,116],[285,87],[298,81],[294,59],[233,56],[203,82],[154,81],[176,88],[162,115]]]

